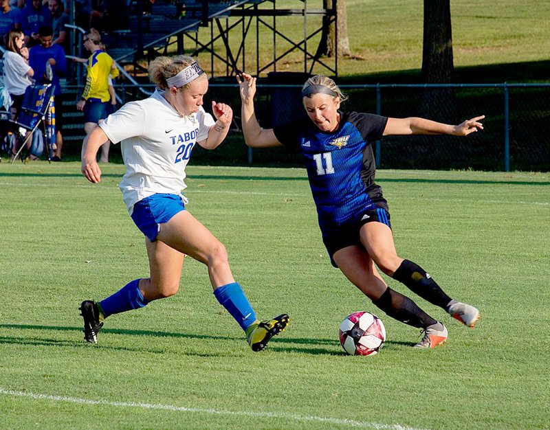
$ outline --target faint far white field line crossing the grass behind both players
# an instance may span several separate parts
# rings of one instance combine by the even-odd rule
[[[49,183],[21,183],[21,182],[0,182],[0,186],[7,185],[7,186],[23,186],[23,187],[48,187],[52,188],[52,184]],[[73,184],[73,185],[60,185],[63,186],[63,188],[89,188],[92,185],[90,184]],[[118,188],[118,186],[113,187]],[[109,192],[113,188],[96,188],[96,190],[109,190]],[[303,197],[303,196],[309,196],[309,192],[302,193],[302,194],[289,194],[286,192],[254,192],[254,191],[231,191],[231,190],[196,190],[192,189],[189,190],[189,194],[238,194],[238,195],[244,195],[244,196],[288,196],[288,197]],[[449,199],[441,199],[438,197],[401,197],[401,199],[413,199],[413,200],[431,200],[431,201],[452,201],[456,203],[469,203],[470,200],[467,199],[453,199],[452,197]],[[489,203],[489,204],[495,204],[495,205],[533,205],[533,206],[550,206],[550,202],[546,201],[509,201],[509,200],[482,200],[482,199],[476,199],[476,202],[479,203]]]

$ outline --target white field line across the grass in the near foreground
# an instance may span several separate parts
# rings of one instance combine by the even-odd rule
[[[137,403],[137,402],[109,402],[107,400],[89,400],[86,398],[67,397],[67,396],[51,396],[49,394],[34,394],[28,392],[14,391],[0,387],[0,394],[7,396],[18,396],[26,398],[34,398],[36,400],[50,400],[53,402],[68,402],[78,403],[80,405],[104,405],[113,407],[137,407],[142,409],[160,409],[164,411],[189,412],[195,414],[211,414],[211,415],[226,415],[226,416],[248,416],[253,418],[283,418],[295,421],[311,421],[311,422],[326,422],[327,424],[346,425],[352,427],[364,427],[367,429],[382,429],[382,430],[421,430],[415,427],[408,427],[399,424],[379,424],[377,422],[362,422],[355,420],[347,420],[340,418],[326,418],[322,416],[301,416],[294,414],[276,414],[274,412],[248,412],[248,411],[223,411],[219,409],[201,409],[196,407],[181,407],[173,405],[159,405],[155,403]]]

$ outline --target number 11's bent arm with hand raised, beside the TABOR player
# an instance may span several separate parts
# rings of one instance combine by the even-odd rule
[[[268,148],[280,146],[272,128],[261,128],[256,113],[254,113],[254,95],[256,94],[256,78],[248,73],[236,77],[241,93],[241,122],[245,142],[251,148]]]

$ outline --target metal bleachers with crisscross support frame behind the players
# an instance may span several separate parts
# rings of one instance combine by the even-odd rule
[[[327,74],[336,75],[336,63],[333,66],[328,65],[317,54],[308,52],[307,41],[316,36],[320,29],[308,34],[306,28],[307,16],[312,14],[327,18],[328,21],[323,21],[325,24],[336,23],[336,9],[312,9],[307,2],[308,0],[300,0],[303,7],[298,9],[278,9],[276,0],[155,0],[151,4],[150,12],[144,13],[142,0],[134,0],[131,2],[129,28],[106,34],[104,42],[109,54],[120,65],[132,64],[134,70],[144,71],[148,61],[158,55],[187,53],[198,56],[199,53],[207,52],[212,58],[211,63],[214,60],[220,61],[227,75],[231,76],[239,70],[237,63],[244,63],[244,40],[254,21],[256,28],[263,26],[273,32],[272,40],[277,36],[285,42],[291,42],[287,52],[274,55],[272,61],[266,65],[258,65],[258,74],[274,69],[278,60],[289,52],[298,51],[305,58],[302,71],[311,71],[314,65],[320,65],[327,70]],[[183,4],[184,10],[181,9]],[[265,19],[268,16],[272,17],[269,22]],[[282,34],[284,27],[277,27],[276,17],[286,16],[303,19],[303,38],[292,42]],[[206,38],[198,36],[201,27],[210,27]],[[234,46],[230,46],[230,32],[238,33],[233,39],[241,38]],[[214,49],[214,42],[217,43],[217,49]],[[219,43],[223,43],[222,49],[219,48]],[[259,44],[259,41],[256,43]],[[309,47],[311,45],[314,44],[310,43]],[[275,52],[275,49],[271,50]],[[211,72],[214,76],[213,69]]]

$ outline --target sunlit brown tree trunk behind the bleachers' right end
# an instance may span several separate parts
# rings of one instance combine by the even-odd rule
[[[336,20],[338,23],[338,41],[336,41],[336,25],[329,23],[329,17],[323,16],[321,40],[317,48],[316,56],[333,57],[336,53],[336,43],[338,42],[338,56],[350,56],[348,37],[348,19],[346,10],[346,0],[323,0],[324,9],[332,9],[333,2],[336,2]]]

